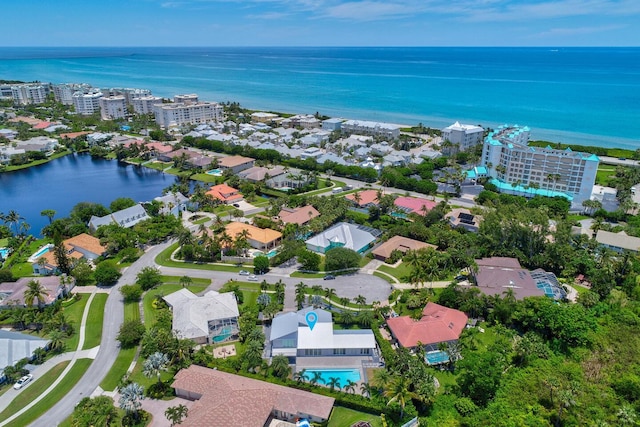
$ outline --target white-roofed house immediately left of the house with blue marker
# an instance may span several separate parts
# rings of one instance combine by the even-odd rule
[[[218,293],[209,291],[199,297],[187,289],[180,289],[163,299],[173,311],[173,331],[181,338],[189,338],[196,342],[208,342],[209,337],[217,342],[214,332],[218,326],[237,327],[240,315],[238,303],[233,292]],[[230,320],[224,325],[218,321]],[[230,330],[228,331],[231,332]]]

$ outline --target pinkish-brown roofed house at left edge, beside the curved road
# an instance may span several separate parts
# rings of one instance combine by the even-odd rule
[[[71,283],[63,283],[65,277]],[[66,276],[46,276],[46,277],[21,277],[16,282],[0,283],[0,307],[26,307],[32,301],[24,300],[24,293],[28,289],[29,282],[37,280],[46,289],[47,295],[44,297],[44,305],[49,305],[57,299],[64,298],[75,286],[75,279]],[[33,305],[38,305],[38,301],[33,301]]]

